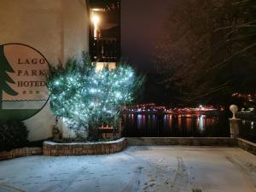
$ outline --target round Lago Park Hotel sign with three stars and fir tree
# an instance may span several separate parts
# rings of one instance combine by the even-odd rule
[[[0,119],[28,119],[48,101],[48,61],[25,44],[0,45]]]

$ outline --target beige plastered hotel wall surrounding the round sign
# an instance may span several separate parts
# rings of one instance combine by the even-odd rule
[[[0,0],[0,44],[20,43],[38,49],[49,61],[66,61],[89,48],[85,0]],[[49,103],[26,119],[29,140],[51,137],[55,118]]]

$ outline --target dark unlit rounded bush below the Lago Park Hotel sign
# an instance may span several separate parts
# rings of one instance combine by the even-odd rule
[[[24,123],[17,120],[0,120],[0,151],[26,146],[28,131]]]

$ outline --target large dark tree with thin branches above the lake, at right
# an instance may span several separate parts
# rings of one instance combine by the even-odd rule
[[[226,102],[233,92],[255,91],[256,1],[176,3],[155,54],[166,87],[181,102]]]

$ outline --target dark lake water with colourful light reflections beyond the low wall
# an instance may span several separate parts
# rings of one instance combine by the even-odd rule
[[[123,125],[124,137],[230,137],[224,116],[124,114]]]

